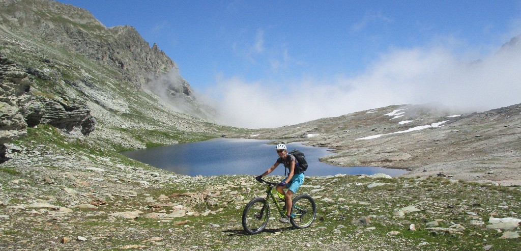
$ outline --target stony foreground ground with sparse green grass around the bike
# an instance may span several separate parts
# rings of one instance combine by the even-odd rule
[[[28,137],[16,144],[29,148],[0,168],[0,246],[8,249],[272,250],[295,236],[294,250],[520,247],[519,187],[445,177],[307,177],[299,193],[317,201],[313,225],[295,230],[271,220],[250,236],[242,210],[265,192],[251,176],[176,175],[67,140],[51,126]]]

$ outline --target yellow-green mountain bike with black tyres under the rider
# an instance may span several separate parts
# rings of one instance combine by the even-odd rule
[[[269,220],[269,198],[275,203],[280,216],[286,216],[286,210],[283,209],[285,202],[277,200],[277,197],[283,199],[284,196],[274,189],[279,183],[268,182],[262,179],[261,181],[267,184],[266,198],[257,197],[252,199],[242,213],[242,226],[249,234],[261,233],[266,228]],[[297,229],[307,228],[315,220],[316,213],[317,206],[311,196],[307,194],[296,196],[293,199],[290,222]]]

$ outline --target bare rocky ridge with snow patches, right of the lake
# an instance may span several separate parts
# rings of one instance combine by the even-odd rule
[[[253,136],[252,136],[253,135]],[[321,161],[407,169],[406,176],[520,185],[521,104],[483,113],[393,105],[275,129],[244,138],[306,141],[334,149]]]

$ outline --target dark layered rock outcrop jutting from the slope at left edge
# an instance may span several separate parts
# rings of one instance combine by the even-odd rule
[[[5,144],[27,134],[27,127],[50,124],[71,132],[81,128],[89,135],[96,124],[81,102],[38,97],[31,93],[31,80],[19,65],[0,54],[0,162],[8,150]]]

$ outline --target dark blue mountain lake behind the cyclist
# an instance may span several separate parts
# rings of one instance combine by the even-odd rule
[[[259,175],[270,168],[278,158],[275,145],[266,145],[268,140],[257,139],[211,139],[122,152],[123,155],[140,162],[183,175],[215,176],[225,174]],[[336,174],[375,174],[391,176],[405,173],[404,170],[378,168],[375,166],[340,167],[318,161],[332,154],[331,149],[303,146],[299,142],[287,144],[288,150],[299,149],[306,155],[309,164],[306,176]],[[279,165],[270,175],[284,175],[284,166]]]

